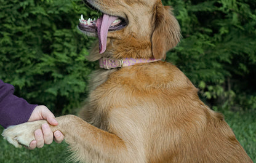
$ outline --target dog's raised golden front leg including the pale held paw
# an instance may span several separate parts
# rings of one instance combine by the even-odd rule
[[[126,146],[118,136],[98,129],[81,118],[73,115],[56,118],[57,126],[50,125],[52,132],[60,130],[65,141],[74,151],[79,161],[119,162],[126,155]],[[9,143],[16,147],[29,146],[34,140],[34,130],[40,129],[46,121],[26,122],[8,127],[2,133]]]

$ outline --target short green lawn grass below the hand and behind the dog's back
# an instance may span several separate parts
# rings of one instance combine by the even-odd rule
[[[256,111],[223,112],[226,122],[233,129],[236,138],[246,150],[247,154],[256,162]],[[0,127],[0,133],[3,128]],[[1,163],[58,163],[67,162],[68,152],[66,143],[52,143],[43,148],[28,150],[15,148],[0,136],[0,162]]]

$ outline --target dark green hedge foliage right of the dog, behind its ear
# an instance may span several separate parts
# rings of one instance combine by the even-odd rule
[[[183,39],[167,55],[215,109],[256,109],[256,13],[247,0],[163,1]]]

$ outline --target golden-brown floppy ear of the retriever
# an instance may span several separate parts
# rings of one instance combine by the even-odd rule
[[[171,9],[169,6],[162,6],[161,1],[154,6],[151,43],[153,56],[156,59],[165,59],[166,52],[177,46],[180,41],[180,26]]]

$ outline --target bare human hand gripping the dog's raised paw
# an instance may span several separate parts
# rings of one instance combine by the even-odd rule
[[[39,105],[34,108],[30,119],[28,119],[28,122],[42,119],[46,119],[46,121],[49,122],[49,124],[51,125],[58,125],[54,114],[52,114],[52,112],[50,112],[50,110],[46,106]],[[57,143],[61,143],[63,141],[64,135],[59,130],[52,133],[49,124],[42,124],[42,129],[34,131],[34,137],[36,140],[31,141],[28,149],[34,149],[36,147],[42,148],[44,144],[49,145],[50,143],[52,143],[53,138]]]

